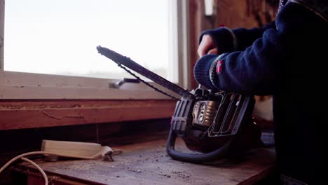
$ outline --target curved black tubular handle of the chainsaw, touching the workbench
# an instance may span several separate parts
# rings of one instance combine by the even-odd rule
[[[233,143],[233,137],[226,142],[223,146],[215,151],[211,151],[209,153],[202,154],[192,154],[192,153],[183,153],[181,151],[175,150],[175,140],[177,139],[177,133],[170,130],[168,135],[168,144],[166,145],[166,151],[168,155],[175,159],[181,160],[187,163],[207,163],[218,158],[222,158],[227,156],[229,151],[231,150],[231,145]]]

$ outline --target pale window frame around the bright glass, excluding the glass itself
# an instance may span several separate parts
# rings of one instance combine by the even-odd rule
[[[175,69],[177,85],[190,89],[189,62],[189,20],[188,1],[170,1],[176,11],[170,13],[173,23],[171,29],[175,33],[171,40],[175,41],[172,48],[171,66]],[[126,84],[120,88],[111,88],[111,83],[119,79],[89,78],[78,76],[60,76],[51,74],[32,74],[25,72],[4,71],[4,8],[5,0],[0,0],[0,100],[168,100],[170,97],[162,95],[144,84]],[[172,62],[171,61],[171,62]],[[131,76],[131,78],[133,78]],[[171,95],[170,90],[152,83]],[[178,96],[178,95],[175,95]],[[179,97],[179,96],[178,96]]]

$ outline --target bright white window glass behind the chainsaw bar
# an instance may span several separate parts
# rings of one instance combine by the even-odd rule
[[[114,62],[97,53],[96,47],[103,46],[168,78],[171,44],[168,2],[6,1],[4,69],[131,78]]]

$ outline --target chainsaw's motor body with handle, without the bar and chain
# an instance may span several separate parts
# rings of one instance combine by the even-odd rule
[[[197,162],[199,157],[199,161],[207,162],[258,146],[261,129],[252,118],[254,97],[227,92],[200,97],[198,100],[183,97],[177,102],[167,147],[172,158]],[[181,137],[191,151],[215,155],[207,155],[205,161],[202,155],[176,151],[176,137]]]

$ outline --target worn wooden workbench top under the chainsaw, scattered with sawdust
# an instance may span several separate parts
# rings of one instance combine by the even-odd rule
[[[183,142],[177,142],[185,150]],[[172,160],[165,151],[165,140],[116,147],[123,153],[114,162],[66,160],[39,163],[53,184],[254,184],[274,169],[271,148],[253,149],[239,159],[221,159],[209,165]],[[31,184],[44,184],[31,165],[16,165],[15,172],[27,174]]]

